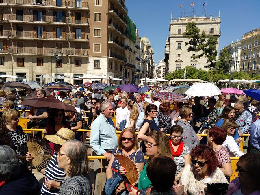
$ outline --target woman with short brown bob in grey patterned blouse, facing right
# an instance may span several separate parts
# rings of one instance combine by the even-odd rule
[[[182,141],[189,147],[191,151],[192,148],[199,144],[198,139],[201,139],[201,137],[196,135],[195,131],[189,123],[189,121],[192,120],[192,108],[187,105],[182,106],[179,114],[181,119],[178,121],[177,125],[180,125],[183,129],[183,133],[181,134]]]

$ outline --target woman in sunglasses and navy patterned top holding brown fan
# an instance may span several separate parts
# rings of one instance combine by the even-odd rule
[[[125,168],[122,167],[121,164],[118,162],[114,153],[123,153],[127,155],[129,158],[135,161],[139,168],[139,171],[143,170],[146,161],[144,159],[144,154],[142,153],[142,151],[140,151],[140,149],[138,149],[137,136],[135,135],[133,129],[125,128],[123,131],[121,131],[118,138],[118,148],[114,149],[114,151],[112,152],[113,155],[109,161],[106,170],[107,180],[111,177],[120,177],[121,179],[126,180],[127,178],[125,177]],[[116,194],[122,192],[123,190],[125,190],[124,182],[122,182],[116,189]]]

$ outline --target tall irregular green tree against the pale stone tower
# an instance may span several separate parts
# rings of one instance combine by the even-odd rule
[[[209,63],[205,68],[216,68],[216,57],[218,55],[216,45],[218,44],[218,38],[211,35],[206,41],[206,33],[204,31],[201,34],[199,33],[200,29],[196,27],[195,22],[187,23],[186,31],[183,33],[183,36],[190,38],[190,41],[185,42],[185,45],[189,45],[188,52],[201,51],[199,55],[191,56],[191,58],[198,59],[204,56],[207,58],[207,63]]]

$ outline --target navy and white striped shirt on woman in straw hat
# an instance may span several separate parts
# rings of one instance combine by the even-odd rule
[[[46,179],[45,181],[55,180],[58,182],[62,182],[65,179],[65,172],[58,167],[57,163],[57,152],[53,154],[51,157],[51,160],[49,161],[49,164],[47,165],[45,169],[45,175]],[[48,190],[46,188],[45,183],[42,184],[41,194],[44,195],[50,195],[55,194],[58,195],[60,193],[59,189],[52,188],[51,190]]]

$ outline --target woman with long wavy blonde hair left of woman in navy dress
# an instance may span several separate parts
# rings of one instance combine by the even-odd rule
[[[125,128],[128,127],[135,131],[137,129],[136,121],[139,116],[137,104],[134,101],[129,101],[127,103],[127,108],[130,110],[130,116],[127,118],[127,124],[125,125]]]

